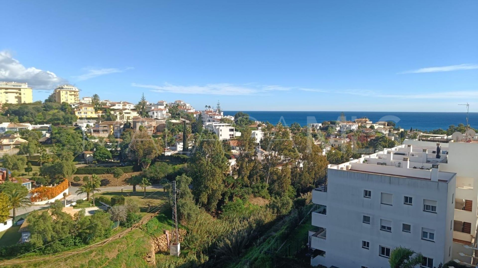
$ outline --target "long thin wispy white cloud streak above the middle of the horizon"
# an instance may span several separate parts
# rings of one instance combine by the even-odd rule
[[[149,88],[152,92],[182,93],[182,94],[213,94],[213,95],[252,95],[265,94],[272,91],[286,91],[291,88],[278,85],[257,85],[249,83],[245,85],[235,85],[231,83],[214,83],[206,85],[173,85],[164,83],[163,85],[147,85],[131,83],[133,87]]]

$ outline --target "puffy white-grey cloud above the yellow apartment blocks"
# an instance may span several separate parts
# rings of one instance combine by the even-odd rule
[[[0,81],[27,82],[33,89],[43,90],[53,90],[68,82],[54,72],[23,66],[8,51],[0,51]]]

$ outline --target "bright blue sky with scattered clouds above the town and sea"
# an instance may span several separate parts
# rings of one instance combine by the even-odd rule
[[[0,80],[257,111],[478,111],[478,1],[6,1]]]

